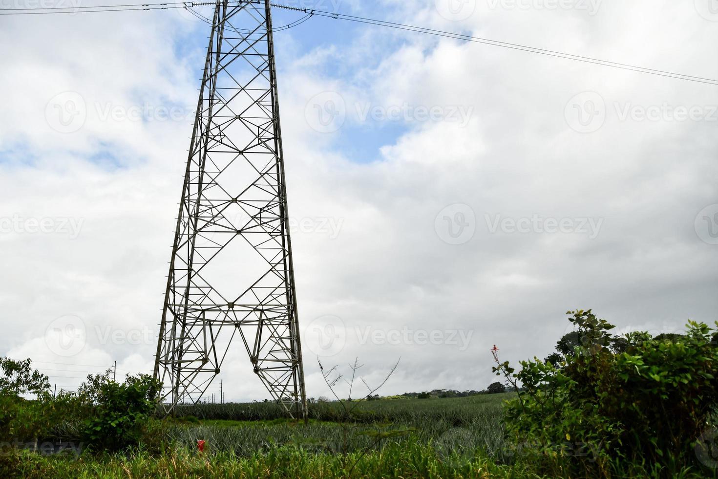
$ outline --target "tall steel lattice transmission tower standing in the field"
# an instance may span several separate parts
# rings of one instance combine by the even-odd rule
[[[200,399],[240,344],[271,396],[306,417],[264,0],[215,6],[154,367],[167,411]]]

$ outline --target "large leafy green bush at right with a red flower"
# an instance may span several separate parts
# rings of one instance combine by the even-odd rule
[[[556,475],[611,475],[651,464],[665,475],[694,465],[694,447],[714,427],[718,348],[707,325],[685,335],[608,332],[591,310],[569,312],[576,345],[564,361],[494,368],[525,391],[508,403],[508,434],[532,462]],[[718,322],[717,322],[718,326]]]

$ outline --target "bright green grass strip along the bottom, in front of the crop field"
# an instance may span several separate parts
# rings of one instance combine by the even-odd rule
[[[12,477],[22,478],[521,478],[526,470],[494,465],[488,458],[442,455],[429,445],[407,441],[362,455],[312,453],[299,447],[274,447],[237,457],[225,452],[200,454],[174,450],[162,455],[131,451],[82,455],[78,459],[25,453],[14,461]],[[9,471],[8,471],[9,472]],[[538,477],[538,476],[531,476]]]

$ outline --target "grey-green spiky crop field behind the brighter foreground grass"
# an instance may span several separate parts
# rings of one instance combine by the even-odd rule
[[[201,424],[176,424],[169,428],[174,444],[193,447],[207,440],[216,452],[248,456],[276,445],[294,445],[304,450],[335,454],[407,439],[429,445],[442,440],[445,448],[461,440],[466,450],[483,450],[491,457],[507,460],[503,445],[501,408],[513,394],[487,394],[447,399],[393,399],[364,401],[353,411],[351,424],[340,422],[337,403],[312,404],[309,424],[282,419],[276,404],[207,404],[180,408],[178,414],[200,419]],[[373,446],[371,431],[405,431]]]

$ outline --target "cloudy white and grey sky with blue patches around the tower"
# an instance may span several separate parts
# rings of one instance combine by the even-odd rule
[[[712,0],[284,3],[718,78]],[[0,0],[45,4],[77,0]],[[0,17],[0,353],[58,388],[151,371],[208,30]],[[716,85],[319,17],[275,40],[308,396],[317,357],[483,389],[492,345],[543,358],[577,308],[718,320]],[[225,399],[264,399],[241,353]]]

